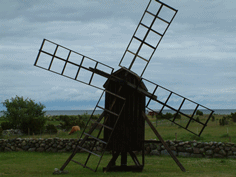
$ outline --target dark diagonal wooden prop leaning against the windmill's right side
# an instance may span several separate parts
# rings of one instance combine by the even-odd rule
[[[173,154],[169,146],[165,143],[165,141],[162,139],[161,135],[158,133],[158,131],[155,129],[155,127],[152,125],[151,121],[148,119],[146,114],[143,112],[143,117],[147,121],[148,125],[151,127],[157,138],[161,141],[167,152],[170,154],[172,159],[175,161],[175,163],[179,166],[179,168],[183,171],[186,172],[184,166],[180,163],[180,161],[177,159],[177,157]]]

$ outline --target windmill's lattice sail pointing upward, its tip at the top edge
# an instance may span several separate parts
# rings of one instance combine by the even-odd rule
[[[176,13],[163,2],[150,0],[119,66],[142,76]]]

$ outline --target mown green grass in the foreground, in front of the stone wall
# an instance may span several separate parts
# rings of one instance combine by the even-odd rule
[[[69,153],[5,152],[0,153],[0,176],[53,176],[54,168],[60,168]],[[75,159],[84,160],[87,154],[77,154]],[[63,176],[185,176],[185,177],[233,177],[236,176],[235,159],[178,158],[185,167],[182,172],[171,157],[146,156],[143,172],[107,172],[103,173],[111,155],[104,155],[97,173],[70,162]],[[118,162],[117,162],[118,163]],[[129,163],[129,161],[128,161]],[[91,166],[96,165],[92,162]]]

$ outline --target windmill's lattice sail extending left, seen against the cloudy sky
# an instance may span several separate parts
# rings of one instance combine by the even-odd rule
[[[102,77],[90,69],[100,69],[111,75],[114,68],[70,50],[64,46],[44,39],[39,49],[34,66],[73,79],[75,81],[104,90],[103,83],[107,78]],[[104,79],[97,82],[95,77]]]

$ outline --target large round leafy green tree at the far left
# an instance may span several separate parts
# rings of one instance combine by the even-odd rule
[[[45,106],[41,103],[16,96],[11,100],[6,99],[3,106],[7,108],[6,111],[2,111],[3,117],[12,125],[12,128],[19,128],[24,133],[30,130],[31,134],[37,134],[43,130],[46,118],[43,111]]]

